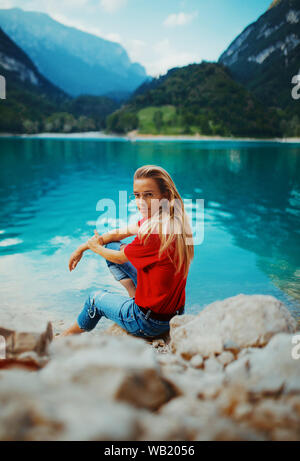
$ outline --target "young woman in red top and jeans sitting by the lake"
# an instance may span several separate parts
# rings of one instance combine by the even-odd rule
[[[90,331],[104,316],[135,336],[154,338],[169,330],[174,315],[184,313],[194,246],[183,201],[170,175],[156,165],[136,170],[133,190],[142,219],[101,236],[95,231],[69,261],[72,271],[85,250],[103,256],[129,296],[92,292],[77,321],[59,337]],[[121,244],[130,235],[135,239]]]

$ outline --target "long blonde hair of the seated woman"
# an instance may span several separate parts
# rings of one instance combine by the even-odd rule
[[[194,242],[183,200],[171,176],[162,167],[144,165],[138,168],[134,173],[133,180],[142,178],[154,179],[166,201],[162,200],[160,202],[162,206],[159,207],[158,212],[142,223],[138,237],[146,243],[151,233],[158,233],[161,241],[158,255],[160,257],[166,251],[170,259],[169,247],[174,242],[174,260],[171,259],[171,261],[177,267],[175,274],[183,267],[184,277],[187,277],[190,263],[194,257]]]

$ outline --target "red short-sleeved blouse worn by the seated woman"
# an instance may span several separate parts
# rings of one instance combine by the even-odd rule
[[[138,225],[145,219],[140,219]],[[172,314],[185,304],[187,277],[183,276],[183,268],[175,275],[176,267],[166,251],[158,258],[159,247],[159,234],[151,234],[146,244],[136,236],[124,247],[124,253],[137,269],[136,304],[161,314]],[[173,258],[172,244],[169,251]]]

